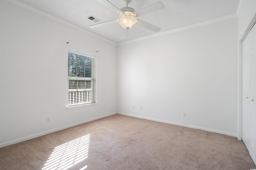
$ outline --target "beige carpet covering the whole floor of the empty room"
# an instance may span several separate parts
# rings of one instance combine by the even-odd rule
[[[0,170],[250,170],[235,137],[112,115],[0,149]]]

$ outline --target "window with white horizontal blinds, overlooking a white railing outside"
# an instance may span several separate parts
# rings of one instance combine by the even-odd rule
[[[68,106],[96,102],[96,58],[68,52]]]

